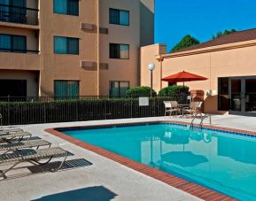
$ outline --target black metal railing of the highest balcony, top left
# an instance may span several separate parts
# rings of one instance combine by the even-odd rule
[[[0,21],[38,25],[38,9],[0,4]]]

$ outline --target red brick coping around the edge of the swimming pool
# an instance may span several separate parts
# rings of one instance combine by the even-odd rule
[[[104,124],[104,125],[96,125],[96,126],[81,126],[81,127],[67,127],[72,129],[79,129],[79,128],[103,128],[103,127],[113,127],[113,126],[132,126],[132,125],[141,125],[141,124],[154,124],[154,123],[171,123],[171,124],[178,124],[178,125],[190,125],[190,123],[182,122],[182,121],[173,121],[173,120],[159,120],[159,121],[145,121],[145,122],[139,122],[139,123],[118,123],[118,124]],[[198,124],[194,124],[195,127],[198,127]],[[216,129],[221,131],[227,131],[232,133],[239,133],[242,135],[254,135],[256,136],[256,132],[253,131],[247,131],[247,130],[241,130],[241,129],[235,129],[235,128],[221,128],[221,127],[215,127],[211,125],[204,125],[203,128],[210,128],[210,129]],[[123,156],[120,156],[118,154],[115,154],[111,151],[106,151],[103,148],[97,147],[95,145],[92,145],[90,143],[82,142],[81,140],[75,139],[74,137],[71,137],[69,135],[66,135],[64,133],[61,133],[60,131],[56,130],[57,128],[47,128],[45,129],[46,132],[50,133],[51,135],[58,136],[59,138],[62,138],[66,140],[69,143],[74,143],[75,145],[84,148],[89,151],[93,151],[97,153],[100,156],[103,156],[105,158],[112,159],[113,161],[120,163],[123,166],[127,166],[133,170],[136,170],[139,173],[145,174],[147,176],[150,176],[160,182],[167,183],[168,185],[175,187],[176,189],[181,189],[182,191],[185,191],[189,193],[192,196],[204,199],[204,200],[211,200],[211,201],[229,201],[229,200],[237,200],[232,197],[226,196],[224,194],[221,194],[220,192],[214,191],[213,189],[207,189],[206,187],[200,186],[197,183],[189,182],[187,180],[184,180],[182,178],[179,178],[172,174],[167,174],[161,170],[155,169],[151,166],[146,166],[142,163],[136,162],[130,158],[126,158]],[[62,129],[62,128],[61,128]],[[63,128],[66,129],[66,128]]]

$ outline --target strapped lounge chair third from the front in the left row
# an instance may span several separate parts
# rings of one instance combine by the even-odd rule
[[[27,141],[30,139],[32,134],[28,132],[16,132],[16,133],[8,133],[8,134],[0,134],[0,143],[12,143],[21,142],[24,137],[27,137]]]

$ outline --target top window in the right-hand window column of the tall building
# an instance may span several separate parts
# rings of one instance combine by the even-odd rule
[[[109,10],[109,23],[129,26],[129,12],[111,8]]]

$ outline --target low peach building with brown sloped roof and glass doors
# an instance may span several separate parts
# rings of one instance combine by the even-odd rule
[[[153,88],[161,78],[186,71],[208,78],[185,82],[192,98],[204,100],[206,113],[256,116],[256,29],[239,31],[190,48],[167,53],[164,44],[141,48],[141,85],[150,86],[149,63],[155,63]],[[208,95],[208,96],[207,96]]]

